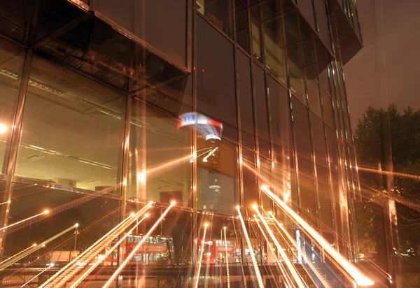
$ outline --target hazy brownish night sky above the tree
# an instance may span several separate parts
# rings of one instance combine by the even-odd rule
[[[420,109],[420,1],[357,4],[364,47],[344,67],[353,130],[367,106]]]

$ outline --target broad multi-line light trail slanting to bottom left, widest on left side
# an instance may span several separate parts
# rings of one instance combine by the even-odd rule
[[[148,208],[151,208],[153,201],[150,201],[144,208],[141,208],[137,213],[132,213],[117,226],[111,229],[106,233],[102,238],[97,240],[94,244],[90,245],[82,254],[73,259],[69,264],[61,268],[57,273],[52,275],[47,281],[43,283],[40,287],[61,287],[66,284],[67,281],[71,279],[78,271],[83,269],[83,266],[78,265],[78,263],[88,263],[90,262],[99,252],[101,252],[106,245],[111,243],[113,239],[118,237],[120,233],[123,233],[130,224],[132,224],[140,215],[146,212]]]

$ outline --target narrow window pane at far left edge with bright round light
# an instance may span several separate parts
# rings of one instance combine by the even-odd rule
[[[20,78],[25,52],[7,41],[0,43],[0,171],[6,172],[3,167],[3,158],[6,147],[9,145],[12,131],[13,116],[18,101]]]

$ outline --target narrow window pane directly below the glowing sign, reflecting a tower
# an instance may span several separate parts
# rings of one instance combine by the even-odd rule
[[[197,140],[197,208],[235,214],[239,204],[237,146],[224,140]]]

